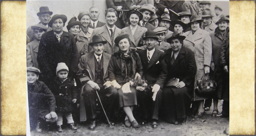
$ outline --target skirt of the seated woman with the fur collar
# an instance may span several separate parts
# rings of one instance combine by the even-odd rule
[[[124,84],[120,84],[123,86]],[[123,93],[122,87],[118,89],[119,107],[137,105],[137,90],[135,87],[130,86],[131,92]]]

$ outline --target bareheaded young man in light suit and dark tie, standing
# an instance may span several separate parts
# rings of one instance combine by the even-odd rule
[[[94,35],[101,35],[105,41],[107,41],[104,52],[112,55],[114,52],[118,51],[119,48],[115,46],[114,39],[120,34],[121,29],[115,26],[117,20],[117,13],[113,8],[108,8],[105,13],[105,19],[107,24],[100,28],[94,29],[91,37]],[[92,39],[90,39],[90,43]],[[90,49],[90,52],[92,50]]]

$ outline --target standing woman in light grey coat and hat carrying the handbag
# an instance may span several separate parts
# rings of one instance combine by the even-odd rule
[[[204,74],[210,72],[210,65],[212,60],[212,40],[209,32],[200,29],[202,19],[198,15],[192,15],[188,26],[190,31],[184,33],[186,36],[184,40],[184,47],[191,49],[195,53],[195,59],[197,64],[197,72],[195,77],[195,84],[198,80],[201,80]],[[194,90],[194,89],[193,89]],[[193,116],[195,112],[196,118],[202,117],[204,113],[203,103],[207,97],[200,97],[193,91],[192,100],[193,103]],[[195,105],[196,104],[196,105]],[[198,109],[196,106],[199,106]]]

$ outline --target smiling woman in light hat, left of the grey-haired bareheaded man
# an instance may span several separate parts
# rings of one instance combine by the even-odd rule
[[[77,18],[81,22],[81,31],[77,35],[85,37],[90,41],[91,34],[93,33],[93,29],[88,27],[91,20],[90,14],[87,11],[80,12]]]

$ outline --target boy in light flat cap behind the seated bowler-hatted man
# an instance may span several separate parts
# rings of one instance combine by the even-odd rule
[[[164,41],[166,30],[167,30],[167,28],[164,28],[164,27],[158,27],[154,30],[154,32],[156,33],[156,37],[158,38],[157,45],[155,48],[162,52],[171,48],[171,45]]]

